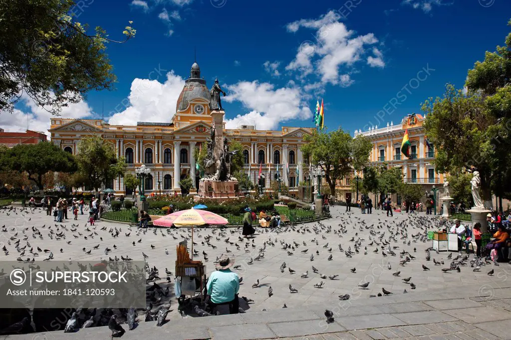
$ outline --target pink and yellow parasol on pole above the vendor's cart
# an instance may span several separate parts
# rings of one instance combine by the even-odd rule
[[[193,227],[204,225],[226,225],[229,223],[216,213],[199,209],[180,210],[154,220],[153,225],[159,227],[192,227],[192,259],[193,259]]]

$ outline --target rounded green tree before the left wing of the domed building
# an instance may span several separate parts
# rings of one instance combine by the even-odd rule
[[[76,160],[79,171],[95,190],[121,176],[126,168],[123,157],[117,159],[113,145],[105,142],[101,136],[88,136],[80,140]]]

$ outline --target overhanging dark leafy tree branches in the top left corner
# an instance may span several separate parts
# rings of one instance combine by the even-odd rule
[[[12,111],[26,93],[55,114],[89,90],[112,88],[105,43],[123,43],[135,30],[127,26],[123,41],[101,27],[89,34],[74,20],[81,10],[73,0],[0,0],[0,110]]]

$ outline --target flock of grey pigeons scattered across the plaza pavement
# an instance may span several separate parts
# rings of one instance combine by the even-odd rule
[[[240,312],[299,308],[317,291],[329,296],[326,301],[332,299],[332,294],[345,301],[354,295],[359,298],[403,294],[407,293],[407,288],[421,290],[421,285],[427,290],[427,283],[418,278],[414,280],[414,273],[421,268],[422,271],[436,271],[438,275],[466,275],[466,268],[470,266],[471,275],[477,280],[484,266],[492,266],[487,271],[487,275],[492,276],[493,266],[498,265],[476,258],[474,254],[459,253],[453,257],[453,253],[433,250],[428,231],[451,224],[436,216],[401,214],[402,218],[386,218],[384,212],[375,210],[373,215],[364,217],[335,206],[331,207],[331,212],[332,218],[320,222],[257,228],[254,237],[248,240],[242,237],[240,228],[196,228],[194,259],[202,260],[209,273],[222,254],[236,258],[231,270],[240,276],[239,296],[243,307]],[[108,326],[114,335],[132,331],[139,322],[155,322],[157,327],[169,319],[212,315],[201,309],[202,306],[193,305],[184,310],[175,302],[172,273],[175,247],[178,242],[187,240],[192,253],[189,228],[139,229],[104,222],[90,226],[85,223],[85,215],[79,221],[48,222],[50,216],[45,216],[45,211],[38,208],[7,207],[0,209],[2,215],[2,220],[6,221],[0,227],[3,260],[17,260],[20,264],[35,260],[146,262],[145,309],[90,310],[76,306],[76,311],[60,328],[65,332]],[[368,216],[372,217],[370,222],[366,222]],[[7,222],[14,221],[13,218],[15,225]],[[0,278],[5,278],[6,274],[0,272]],[[400,277],[402,290],[396,290],[395,282],[388,286],[379,284],[379,277],[386,282],[388,278]],[[245,282],[248,282],[246,286]],[[347,286],[347,282],[353,282],[352,286]],[[171,300],[175,307],[171,307]],[[333,322],[331,311],[327,309],[324,314],[327,322]],[[0,330],[0,334],[26,332],[32,322],[26,319]]]

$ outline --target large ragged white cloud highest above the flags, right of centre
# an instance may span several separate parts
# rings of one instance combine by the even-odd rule
[[[353,81],[343,81],[339,75],[340,67],[350,67],[361,60],[366,53],[366,46],[373,45],[378,39],[373,33],[357,36],[348,30],[341,17],[334,11],[322,15],[319,19],[301,19],[287,25],[287,30],[296,32],[300,27],[316,29],[316,42],[301,43],[295,58],[286,66],[286,70],[298,71],[298,78],[303,78],[314,71],[321,82],[332,85],[349,86]],[[377,58],[380,58],[381,55]],[[349,84],[349,85],[348,85]]]

